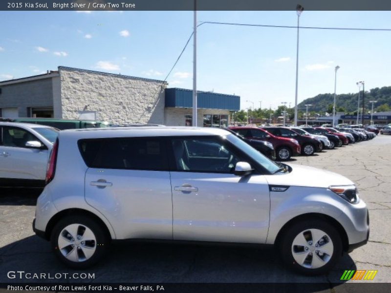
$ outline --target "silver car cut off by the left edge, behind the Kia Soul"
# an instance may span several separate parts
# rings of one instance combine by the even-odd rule
[[[0,187],[44,187],[47,161],[58,130],[0,122]]]

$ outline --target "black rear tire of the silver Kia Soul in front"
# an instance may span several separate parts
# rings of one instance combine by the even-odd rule
[[[65,239],[65,241],[67,241],[66,244],[69,242],[69,245],[63,247],[63,249],[59,249],[60,233],[62,232],[66,233],[65,228],[71,227],[69,225],[72,224],[79,225],[77,228],[77,232],[75,233],[74,237],[72,237],[72,235],[68,237],[70,233],[67,233],[66,235],[64,234],[66,237],[61,236],[63,237],[63,239]],[[86,239],[87,241],[85,241],[85,243],[83,244],[82,242],[83,237],[85,236],[85,233],[87,231],[92,232],[93,236],[95,237],[95,240]],[[79,237],[81,238],[77,239],[76,235],[79,235]],[[75,241],[71,241],[72,239],[70,238],[74,239]],[[88,237],[88,238],[92,239],[92,237]],[[51,233],[50,242],[51,242],[52,250],[58,259],[60,259],[66,266],[72,269],[80,270],[80,269],[86,269],[94,265],[103,257],[109,245],[109,235],[107,235],[106,230],[103,227],[101,227],[99,223],[97,223],[90,217],[82,216],[82,215],[70,215],[60,220],[54,226],[53,232]],[[88,254],[85,254],[83,252],[86,251],[87,253],[91,253],[89,251],[92,251],[93,249],[95,249],[93,254],[88,257],[87,257]],[[67,257],[65,257],[64,255],[65,253],[67,253],[67,255],[71,255],[72,252],[75,252],[74,255],[77,259],[79,259],[78,261],[71,261]]]

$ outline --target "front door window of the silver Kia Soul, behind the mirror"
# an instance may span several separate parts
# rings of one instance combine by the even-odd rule
[[[218,138],[174,139],[172,146],[178,171],[231,173],[240,161]]]

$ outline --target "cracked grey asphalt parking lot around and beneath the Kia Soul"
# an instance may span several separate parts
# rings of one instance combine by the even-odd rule
[[[7,272],[73,273],[59,263],[49,243],[31,229],[38,192],[0,189],[0,283],[6,282],[314,282],[341,291],[345,270],[377,270],[370,282],[391,282],[391,136],[295,157],[302,164],[340,173],[354,181],[369,207],[369,243],[350,254],[328,275],[290,272],[273,249],[173,245],[122,241],[87,273],[94,279],[9,279]],[[368,282],[353,281],[349,282]]]

